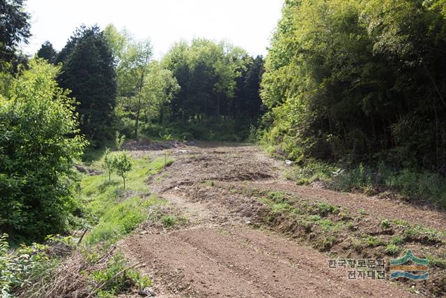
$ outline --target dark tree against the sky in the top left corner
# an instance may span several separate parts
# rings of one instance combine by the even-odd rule
[[[17,54],[19,43],[28,43],[29,14],[23,0],[0,0],[0,71],[15,70],[24,56]]]

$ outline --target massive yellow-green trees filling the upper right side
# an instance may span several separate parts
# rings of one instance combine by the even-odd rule
[[[288,0],[262,80],[270,140],[297,160],[446,172],[445,1]]]

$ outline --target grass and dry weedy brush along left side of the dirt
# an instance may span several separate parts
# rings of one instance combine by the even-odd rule
[[[77,295],[115,297],[134,288],[151,285],[125,257],[114,252],[114,244],[144,221],[156,221],[164,228],[181,222],[165,214],[168,202],[150,193],[146,180],[173,163],[164,156],[131,158],[126,188],[117,174],[102,169],[103,151],[91,151],[88,167],[95,174],[82,174],[79,200],[82,209],[75,216],[78,228],[89,230],[79,238],[49,237],[45,244],[10,248],[7,235],[0,237],[1,297]],[[100,173],[100,174],[98,174]],[[82,234],[79,231],[77,234]],[[61,279],[62,278],[62,279]]]

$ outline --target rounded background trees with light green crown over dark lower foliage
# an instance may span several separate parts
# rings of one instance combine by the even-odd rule
[[[196,38],[190,45],[180,42],[165,55],[162,66],[172,71],[181,91],[172,100],[174,115],[191,119],[229,116],[249,56],[240,47]]]

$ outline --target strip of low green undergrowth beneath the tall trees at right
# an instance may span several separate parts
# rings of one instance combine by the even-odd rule
[[[305,165],[293,167],[286,177],[300,185],[321,182],[337,191],[361,191],[367,195],[380,193],[385,196],[393,191],[397,198],[428,200],[446,209],[446,178],[432,172],[408,168],[394,170],[383,163],[376,166],[360,163],[345,168],[321,161],[307,161]]]

